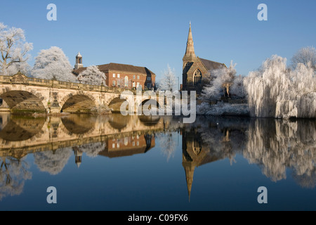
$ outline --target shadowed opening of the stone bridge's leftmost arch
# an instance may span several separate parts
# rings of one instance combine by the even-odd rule
[[[46,113],[44,97],[32,89],[0,89],[0,98],[4,99],[13,113]]]

